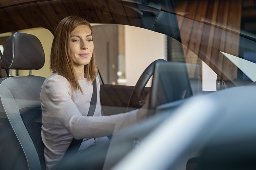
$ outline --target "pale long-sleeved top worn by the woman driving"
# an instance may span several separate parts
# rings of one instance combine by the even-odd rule
[[[64,156],[73,138],[84,139],[82,146],[90,146],[94,139],[136,123],[137,111],[101,116],[100,84],[97,78],[97,105],[93,117],[87,116],[93,87],[86,79],[78,79],[83,93],[73,90],[69,82],[57,73],[48,77],[41,90],[42,140],[45,144],[47,169]]]

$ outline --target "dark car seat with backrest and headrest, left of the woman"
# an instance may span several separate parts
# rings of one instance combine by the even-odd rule
[[[40,69],[45,62],[41,42],[34,35],[16,32],[4,47],[2,69]],[[45,78],[15,76],[0,79],[0,112],[4,112],[20,142],[29,169],[45,169],[41,138],[40,92]]]

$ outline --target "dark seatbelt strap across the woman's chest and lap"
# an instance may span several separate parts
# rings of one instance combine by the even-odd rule
[[[90,107],[89,107],[89,111],[87,116],[93,116],[94,112],[95,112],[95,108],[96,108],[96,102],[97,102],[97,87],[96,87],[96,79],[93,81],[93,94],[92,94],[92,98],[91,98],[91,102],[90,102]],[[75,155],[82,143],[83,139],[80,140],[76,140],[75,138],[73,138],[72,142],[70,143],[67,151],[66,151],[66,155]],[[64,157],[65,157],[64,156]]]

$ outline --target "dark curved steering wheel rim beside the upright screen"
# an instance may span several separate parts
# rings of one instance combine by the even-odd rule
[[[128,106],[127,106],[127,111],[129,108],[139,108],[141,105],[139,104],[139,98],[149,81],[150,77],[154,74],[154,68],[155,64],[158,62],[166,62],[166,60],[163,59],[158,59],[152,62],[147,68],[144,70],[144,72],[141,74],[139,80],[137,81],[135,87],[133,88],[132,94],[130,96]]]

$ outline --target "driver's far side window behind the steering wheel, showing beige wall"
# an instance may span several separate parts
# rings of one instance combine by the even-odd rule
[[[164,59],[197,64],[197,68],[188,66],[189,77],[202,79],[203,90],[216,91],[217,74],[174,38],[124,25],[93,25],[93,28],[97,65],[105,84],[134,86],[150,63]],[[184,51],[188,52],[186,57]],[[151,86],[151,80],[147,86]]]

